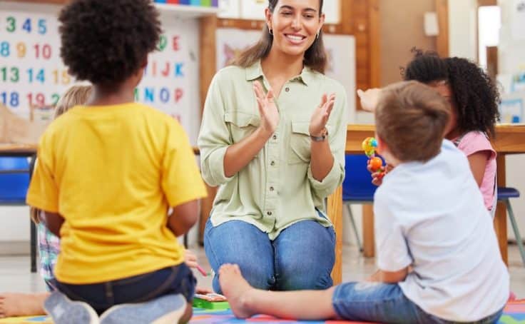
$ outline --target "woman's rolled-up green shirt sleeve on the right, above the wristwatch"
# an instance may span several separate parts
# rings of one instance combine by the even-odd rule
[[[320,197],[326,198],[335,191],[338,186],[341,186],[343,179],[345,178],[345,144],[347,138],[347,96],[345,89],[340,87],[340,91],[337,92],[335,99],[335,107],[330,115],[330,121],[332,125],[335,125],[335,129],[330,133],[328,132],[328,138],[330,139],[330,151],[334,157],[334,163],[332,169],[325,176],[322,181],[317,181],[312,175],[311,166],[308,168],[308,180],[312,192]],[[339,99],[339,100],[338,100]]]

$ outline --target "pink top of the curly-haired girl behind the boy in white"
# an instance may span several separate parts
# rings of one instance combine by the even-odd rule
[[[457,144],[459,140],[459,144]],[[481,194],[485,207],[491,211],[494,206],[494,184],[496,182],[496,151],[492,148],[489,138],[486,137],[485,133],[481,131],[470,131],[466,133],[462,138],[457,138],[454,143],[457,144],[457,148],[461,150],[468,157],[476,152],[489,151],[490,156],[486,161],[485,174],[483,181],[481,181]]]

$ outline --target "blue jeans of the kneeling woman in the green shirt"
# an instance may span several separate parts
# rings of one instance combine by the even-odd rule
[[[239,265],[244,278],[264,290],[325,289],[332,286],[335,232],[316,221],[300,221],[275,240],[244,221],[213,226],[208,220],[204,249],[215,271],[213,290],[220,293],[218,269],[224,263]]]

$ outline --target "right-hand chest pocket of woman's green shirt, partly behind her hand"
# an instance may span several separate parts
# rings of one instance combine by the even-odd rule
[[[326,128],[329,137],[326,138],[325,141],[330,141],[330,134],[334,131],[334,128],[332,125],[327,125]],[[333,135],[334,134],[332,134],[332,136]],[[288,163],[310,163],[310,157],[312,155],[311,143],[310,122],[292,122]]]

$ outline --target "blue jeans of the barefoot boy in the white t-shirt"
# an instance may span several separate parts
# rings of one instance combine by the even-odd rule
[[[425,313],[412,300],[405,297],[397,284],[343,283],[335,288],[332,305],[337,315],[345,320],[377,323],[457,323]],[[501,313],[503,308],[472,323],[496,323]]]

